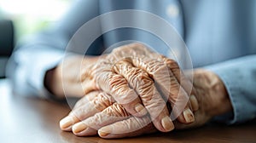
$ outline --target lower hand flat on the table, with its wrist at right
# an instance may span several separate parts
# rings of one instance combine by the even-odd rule
[[[199,110],[195,112],[195,122],[188,124],[175,120],[176,129],[201,126],[212,117],[232,110],[224,84],[218,76],[205,70],[196,70],[194,77],[195,96],[190,100],[192,106],[198,106],[194,105],[195,98],[199,104]],[[79,100],[68,117],[73,117],[73,134],[78,136],[98,133],[102,138],[110,139],[157,131],[150,117],[131,116],[123,106],[114,102],[112,96],[100,91],[93,91]],[[71,128],[67,131],[71,131]]]

